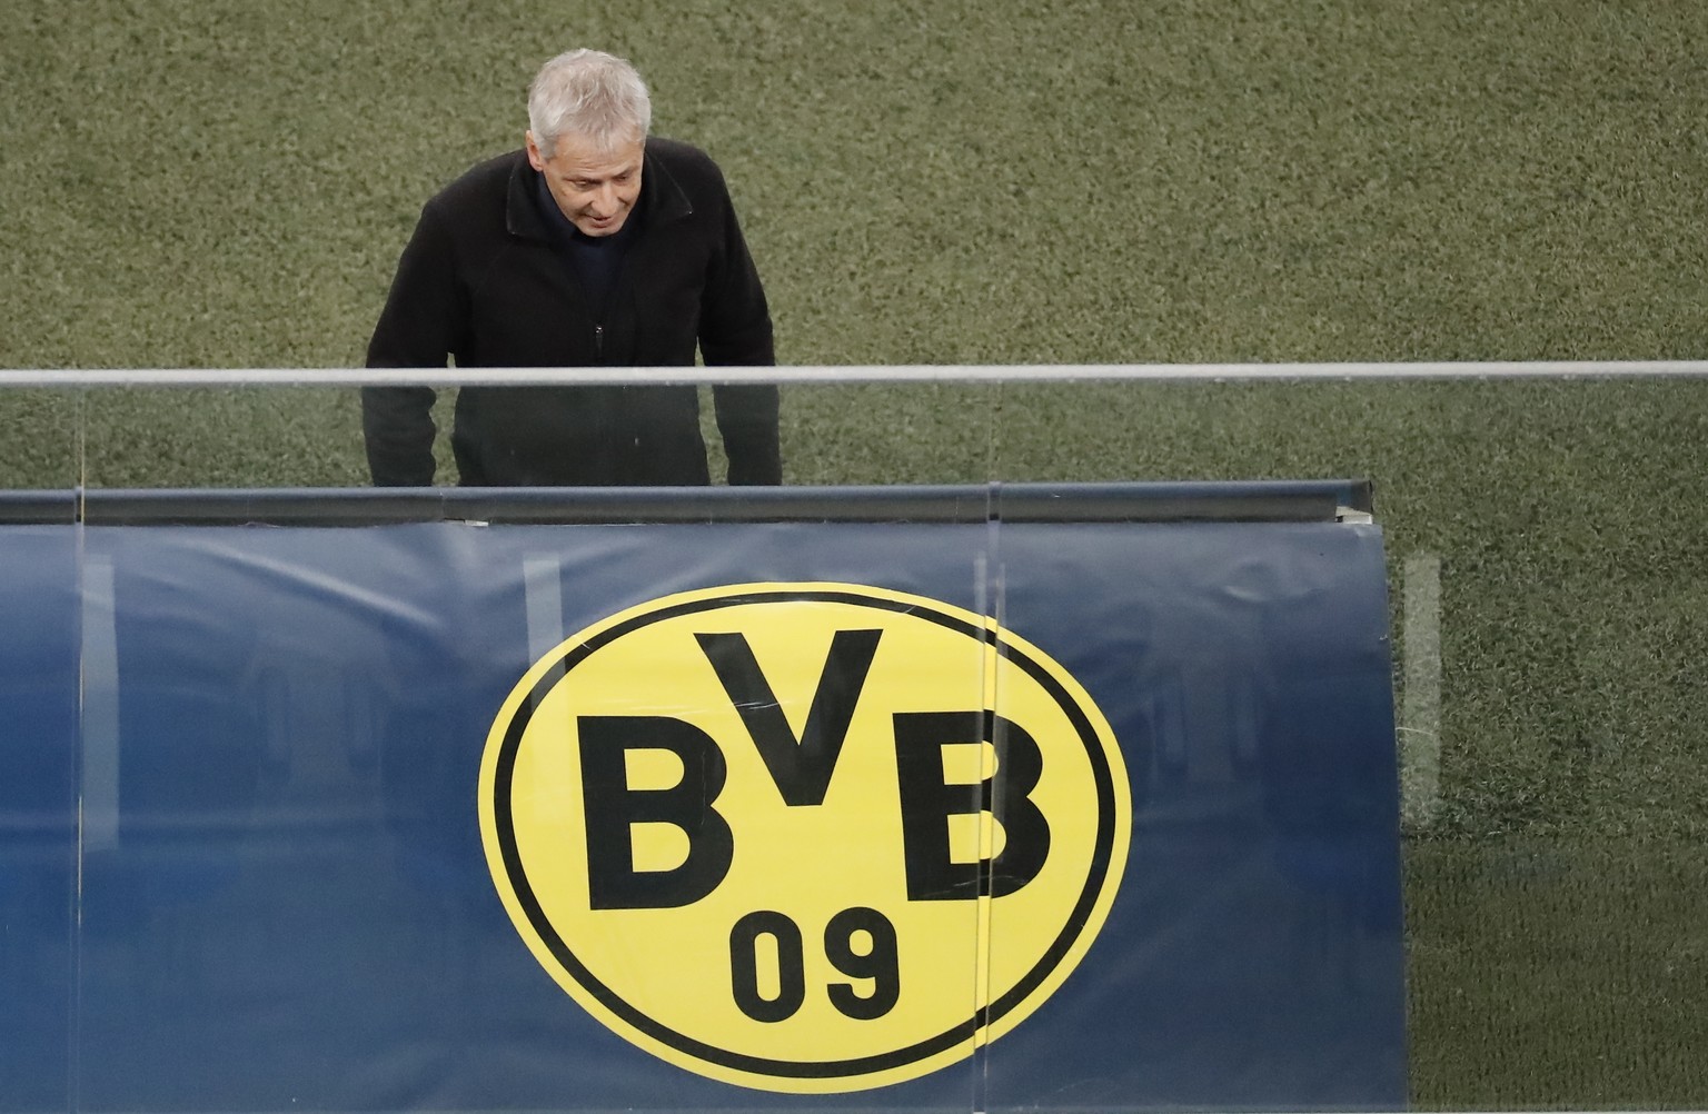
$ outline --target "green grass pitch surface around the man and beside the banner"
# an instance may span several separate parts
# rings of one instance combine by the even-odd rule
[[[1694,359],[1694,0],[0,0],[0,367],[362,359],[548,55],[729,176],[789,364]],[[1442,562],[1421,1107],[1708,1105],[1708,384],[794,386],[787,480],[1366,475]],[[352,391],[3,391],[0,485],[345,485]]]

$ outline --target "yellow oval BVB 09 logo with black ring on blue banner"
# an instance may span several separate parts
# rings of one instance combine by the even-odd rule
[[[518,931],[627,1041],[849,1092],[1044,1003],[1127,856],[1115,738],[994,622],[856,584],[688,591],[516,685],[480,827]]]

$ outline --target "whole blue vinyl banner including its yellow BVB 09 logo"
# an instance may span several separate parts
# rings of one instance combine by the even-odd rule
[[[1402,1109],[1290,490],[0,526],[0,1111]]]

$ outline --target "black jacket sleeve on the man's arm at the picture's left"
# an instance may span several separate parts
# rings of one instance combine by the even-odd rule
[[[449,237],[424,208],[367,343],[369,367],[446,366],[461,320],[454,275]],[[429,386],[362,388],[362,439],[374,487],[432,484],[434,398]]]

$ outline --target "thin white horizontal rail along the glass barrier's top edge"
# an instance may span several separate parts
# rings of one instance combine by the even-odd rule
[[[1708,378],[1708,361],[1411,364],[866,364],[816,367],[102,367],[0,371],[0,388],[611,386],[670,383],[1250,383]]]

